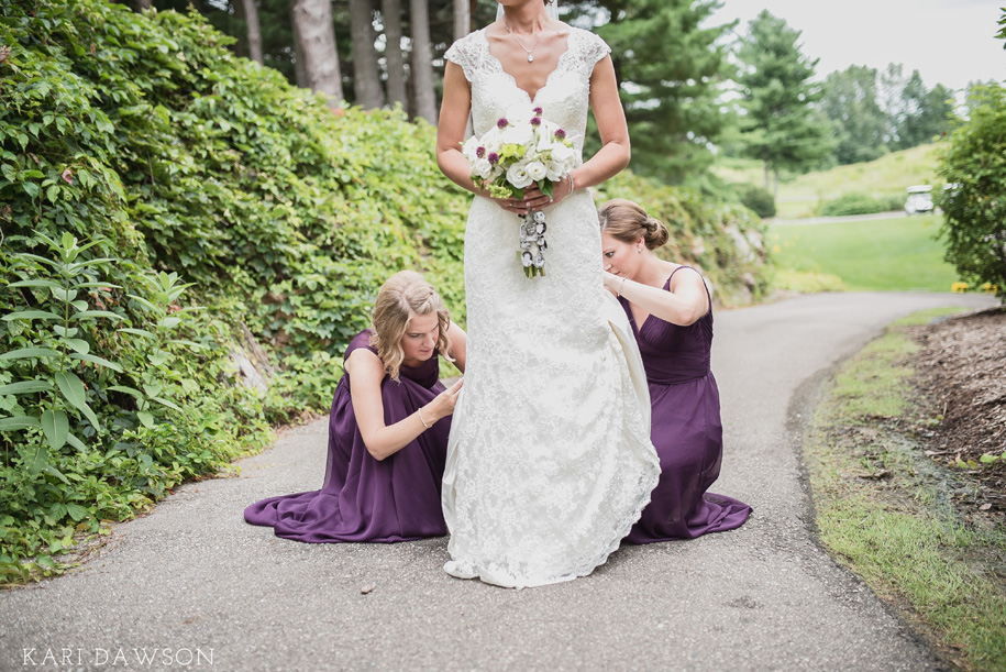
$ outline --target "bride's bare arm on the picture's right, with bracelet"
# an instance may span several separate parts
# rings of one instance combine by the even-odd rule
[[[632,156],[626,111],[618,97],[618,81],[610,56],[605,56],[594,66],[590,75],[590,109],[597,121],[601,148],[573,170],[573,183],[577,189],[593,187],[613,177],[629,165]]]

